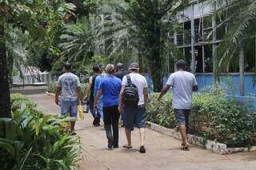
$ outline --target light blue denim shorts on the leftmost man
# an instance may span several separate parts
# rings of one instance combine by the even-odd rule
[[[61,100],[61,115],[70,114],[70,117],[78,115],[78,99],[62,99]]]

